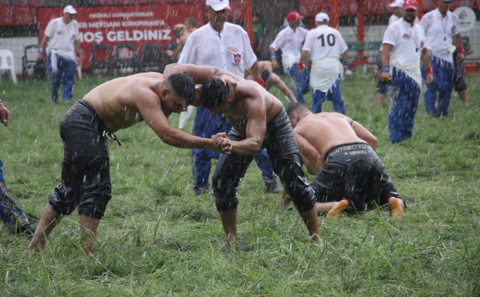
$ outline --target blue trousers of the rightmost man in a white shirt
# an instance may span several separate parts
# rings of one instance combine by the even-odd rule
[[[434,70],[434,81],[427,84],[427,92],[425,92],[425,109],[427,113],[431,113],[434,117],[440,115],[448,115],[448,106],[452,98],[454,86],[453,75],[455,68],[453,63],[433,56],[430,53],[431,68]],[[427,79],[427,72],[422,65],[422,76]],[[438,105],[437,105],[438,92]]]

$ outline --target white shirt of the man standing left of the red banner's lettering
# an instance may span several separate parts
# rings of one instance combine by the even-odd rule
[[[49,37],[47,53],[55,50],[58,55],[75,60],[75,41],[79,36],[76,20],[65,25],[63,18],[54,18],[46,25],[44,34]]]

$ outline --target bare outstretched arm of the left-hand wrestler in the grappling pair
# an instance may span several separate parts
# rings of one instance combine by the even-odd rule
[[[165,144],[177,148],[212,148],[222,152],[213,139],[195,137],[170,125],[162,111],[158,95],[151,89],[137,91],[135,104],[145,122]],[[183,109],[179,106],[180,109]]]

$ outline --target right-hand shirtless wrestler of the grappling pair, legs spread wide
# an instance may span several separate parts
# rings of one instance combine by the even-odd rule
[[[314,193],[305,182],[298,146],[282,102],[257,82],[245,80],[227,70],[213,66],[171,64],[164,73],[168,77],[178,72],[190,75],[196,84],[203,84],[201,101],[193,105],[201,105],[212,114],[223,113],[233,125],[228,134],[232,141],[232,153],[220,156],[212,180],[215,205],[227,234],[221,248],[226,248],[230,240],[238,243],[236,187],[260,148],[266,148],[272,168],[292,197],[312,240],[320,241]],[[236,89],[229,88],[218,78],[233,80]]]

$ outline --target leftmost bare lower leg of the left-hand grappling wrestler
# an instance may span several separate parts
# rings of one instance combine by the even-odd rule
[[[46,203],[32,241],[30,241],[28,249],[23,252],[22,258],[27,258],[30,251],[40,251],[45,248],[46,238],[57,225],[58,217],[60,217],[60,213],[57,213],[50,203]]]

